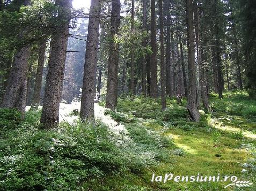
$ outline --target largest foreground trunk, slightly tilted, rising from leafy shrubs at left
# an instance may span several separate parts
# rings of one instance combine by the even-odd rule
[[[52,51],[48,62],[48,74],[46,77],[45,96],[40,120],[40,127],[49,129],[58,126],[59,108],[62,96],[65,58],[68,45],[69,21],[71,11],[70,0],[56,1],[62,7],[58,19],[65,19],[65,22],[58,28],[58,32],[52,35],[50,47]]]

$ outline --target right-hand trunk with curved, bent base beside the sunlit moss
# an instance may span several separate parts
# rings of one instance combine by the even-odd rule
[[[187,0],[187,22],[188,22],[188,103],[187,109],[191,118],[199,121],[200,113],[196,107],[196,66],[195,66],[195,33],[193,19],[193,1]]]

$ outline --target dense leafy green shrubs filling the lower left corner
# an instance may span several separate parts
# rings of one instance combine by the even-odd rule
[[[1,190],[77,190],[88,178],[125,168],[105,125],[77,121],[39,130],[30,124],[38,124],[34,112],[20,128],[1,132]]]

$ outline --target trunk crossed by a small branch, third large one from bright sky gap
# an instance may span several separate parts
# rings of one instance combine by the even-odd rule
[[[118,63],[119,44],[114,42],[114,36],[119,32],[120,27],[120,0],[112,0],[111,11],[111,41],[109,43],[108,78],[106,108],[115,109],[118,102]]]

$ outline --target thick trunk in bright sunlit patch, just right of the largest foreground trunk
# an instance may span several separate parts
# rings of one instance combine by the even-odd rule
[[[95,88],[95,70],[97,65],[97,51],[99,38],[99,22],[100,22],[100,3],[99,0],[91,1],[90,18],[88,25],[85,64],[84,64],[84,80],[81,98],[82,120],[94,121],[94,94]]]

